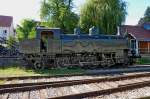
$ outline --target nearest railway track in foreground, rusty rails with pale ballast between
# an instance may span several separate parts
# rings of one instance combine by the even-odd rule
[[[150,73],[0,85],[0,99],[82,99],[150,85]]]

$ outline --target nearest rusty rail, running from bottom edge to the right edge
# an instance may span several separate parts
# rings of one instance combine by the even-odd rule
[[[86,92],[86,93],[72,94],[72,95],[66,95],[66,96],[60,96],[60,97],[52,97],[48,99],[82,99],[82,98],[88,98],[88,97],[97,97],[100,95],[109,95],[109,94],[116,93],[116,92],[123,92],[123,91],[133,90],[133,89],[142,88],[146,86],[150,86],[150,81],[133,83],[131,85],[127,84],[123,86],[118,86],[116,88],[91,91],[91,92]]]

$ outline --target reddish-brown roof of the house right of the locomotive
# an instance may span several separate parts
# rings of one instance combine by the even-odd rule
[[[139,41],[150,41],[150,30],[146,30],[143,26],[122,25],[120,32],[129,33]]]

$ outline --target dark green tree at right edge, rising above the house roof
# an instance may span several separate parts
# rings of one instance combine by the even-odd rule
[[[139,20],[138,24],[142,25],[145,22],[150,22],[150,7],[147,7],[144,17]]]

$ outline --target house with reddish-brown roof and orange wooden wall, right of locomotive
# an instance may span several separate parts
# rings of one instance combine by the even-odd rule
[[[130,48],[136,54],[150,54],[150,23],[141,26],[122,25],[120,34],[128,37]]]

